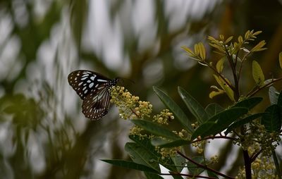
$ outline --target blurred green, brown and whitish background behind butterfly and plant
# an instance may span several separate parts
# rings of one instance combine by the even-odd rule
[[[262,30],[258,40],[265,39],[268,50],[251,58],[261,63],[266,79],[281,77],[281,20],[281,0],[1,0],[0,178],[144,178],[99,161],[129,159],[123,146],[130,121],[118,118],[115,107],[102,120],[85,118],[68,74],[87,69],[133,80],[123,85],[152,102],[155,113],[164,108],[152,91],[156,85],[192,119],[178,86],[203,106],[231,103],[224,95],[209,99],[211,71],[180,47],[204,42],[214,61],[207,35]],[[244,68],[246,94],[255,82],[250,64]],[[267,93],[260,93],[261,109],[269,104]],[[243,163],[240,150],[224,150],[228,145],[209,146],[207,153],[220,152],[214,168],[234,176]]]

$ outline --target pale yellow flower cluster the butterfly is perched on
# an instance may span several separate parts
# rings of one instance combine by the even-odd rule
[[[145,118],[152,113],[152,104],[148,101],[139,101],[139,97],[133,96],[124,87],[111,87],[111,102],[118,107],[121,118]]]

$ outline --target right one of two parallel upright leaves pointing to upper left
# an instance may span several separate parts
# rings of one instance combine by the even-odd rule
[[[186,92],[182,87],[178,87],[178,94],[185,102],[186,106],[190,110],[193,116],[197,118],[197,122],[199,124],[207,121],[207,113],[204,111],[204,108],[200,105],[200,103],[193,98],[188,92]]]

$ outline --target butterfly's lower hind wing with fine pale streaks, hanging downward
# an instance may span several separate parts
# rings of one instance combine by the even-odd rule
[[[85,117],[98,120],[108,113],[110,92],[106,84],[97,88],[96,93],[88,94],[82,102],[82,113]]]

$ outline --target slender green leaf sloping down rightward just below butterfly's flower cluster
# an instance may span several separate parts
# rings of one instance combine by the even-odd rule
[[[135,125],[140,126],[140,128],[147,130],[148,132],[151,132],[154,135],[158,135],[161,137],[166,137],[168,139],[172,140],[180,140],[181,137],[176,135],[175,133],[171,132],[171,130],[168,130],[164,128],[161,125],[158,125],[157,123],[153,123],[151,121],[143,120],[143,119],[133,119],[130,120]]]

